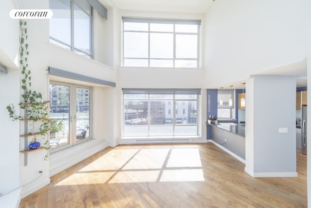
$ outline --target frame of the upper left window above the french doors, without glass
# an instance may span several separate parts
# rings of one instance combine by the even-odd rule
[[[61,41],[61,40],[58,40],[58,39],[52,37],[52,36],[50,36],[50,39],[60,43],[61,45],[69,47],[70,51],[72,51],[72,52],[75,52],[75,53],[81,52],[82,53],[81,55],[93,59],[93,48],[94,48],[93,47],[93,7],[91,6],[91,11],[90,11],[91,14],[88,14],[81,6],[79,6],[78,3],[75,3],[74,1],[75,0],[70,0],[70,13],[71,13],[71,15],[70,15],[70,19],[71,19],[71,43],[70,43],[70,45]],[[74,5],[79,7],[88,17],[91,18],[91,24],[90,24],[90,28],[89,28],[89,32],[91,33],[91,35],[90,35],[90,38],[91,38],[90,53],[84,52],[84,51],[74,47]]]

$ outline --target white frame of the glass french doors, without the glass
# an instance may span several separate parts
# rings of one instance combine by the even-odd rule
[[[55,82],[55,81],[50,81],[50,85],[59,85],[59,86],[66,86],[69,87],[69,144],[62,145],[57,148],[51,149],[51,153],[59,152],[61,150],[73,147],[77,144],[86,142],[90,139],[92,139],[92,124],[93,124],[93,116],[92,116],[92,94],[93,90],[91,86],[83,86],[83,85],[76,85],[76,84],[70,84],[70,83],[63,83],[63,82]],[[70,121],[70,119],[73,119],[75,121],[74,116],[76,115],[76,88],[87,88],[89,89],[89,136],[86,139],[81,139],[79,141],[76,141],[76,131],[73,129],[76,128],[76,123]],[[49,90],[50,91],[50,90]],[[71,104],[71,105],[70,105]],[[49,138],[50,139],[50,138]]]

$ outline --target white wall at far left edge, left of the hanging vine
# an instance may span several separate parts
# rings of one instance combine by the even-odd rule
[[[11,9],[15,9],[11,0],[1,2],[0,65],[6,67],[8,71],[7,74],[0,72],[0,94],[2,97],[0,101],[0,143],[3,145],[0,151],[0,193],[2,194],[12,191],[20,185],[19,122],[10,121],[6,110],[8,104],[18,106],[20,99],[17,64],[19,25],[18,20],[9,17]],[[19,114],[18,107],[17,114]]]

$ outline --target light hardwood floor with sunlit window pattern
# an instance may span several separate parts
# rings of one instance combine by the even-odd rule
[[[297,178],[252,178],[212,143],[119,145],[51,177],[19,208],[307,207],[307,156]]]

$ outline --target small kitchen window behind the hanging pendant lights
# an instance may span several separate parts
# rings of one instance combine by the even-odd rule
[[[220,105],[220,99],[223,100],[223,104]],[[230,106],[229,99],[232,99],[232,105]],[[232,119],[234,113],[234,90],[220,89],[218,90],[218,110],[217,115],[219,119]]]

